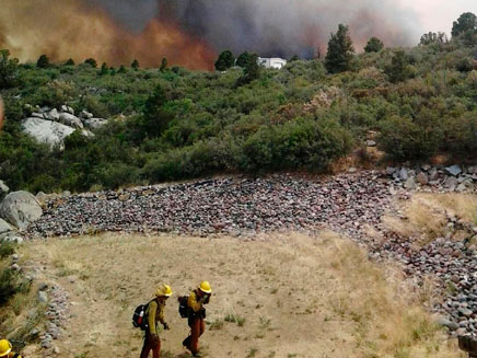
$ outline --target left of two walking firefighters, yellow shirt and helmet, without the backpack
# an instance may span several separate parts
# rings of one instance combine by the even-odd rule
[[[159,338],[159,323],[164,330],[168,330],[168,324],[164,320],[165,302],[172,296],[172,289],[167,285],[162,285],[155,291],[155,299],[149,303],[146,310],[148,327],[146,328],[144,345],[141,350],[141,358],[148,358],[152,350],[153,358],[161,357],[161,339]]]

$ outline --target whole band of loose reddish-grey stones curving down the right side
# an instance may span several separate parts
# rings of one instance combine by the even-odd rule
[[[474,172],[463,172],[472,181]],[[428,275],[435,277],[444,297],[433,307],[442,315],[440,323],[449,327],[451,335],[477,336],[475,246],[447,235],[418,247],[382,223],[385,212],[396,211],[396,199],[409,197],[409,176],[420,173],[424,171],[388,169],[387,173],[367,171],[323,180],[293,175],[218,178],[63,196],[48,201],[43,217],[30,226],[26,234],[45,238],[124,231],[248,238],[258,232],[330,228],[365,245],[376,261],[398,261],[418,281]],[[417,181],[410,189],[455,189],[446,185],[453,174],[442,170],[432,175],[432,186]],[[475,187],[466,184],[464,189]],[[453,226],[461,224],[458,218],[449,220]],[[370,227],[385,240],[370,236]],[[477,234],[477,229],[466,229]]]

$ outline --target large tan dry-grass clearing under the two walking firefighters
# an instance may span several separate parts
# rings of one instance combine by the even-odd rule
[[[166,357],[187,357],[175,297],[209,279],[214,295],[201,339],[207,357],[450,358],[454,343],[431,322],[398,270],[385,272],[336,234],[229,238],[102,235],[24,246],[72,295],[63,357],[137,357],[133,308],[172,285]],[[30,357],[34,357],[31,355]]]

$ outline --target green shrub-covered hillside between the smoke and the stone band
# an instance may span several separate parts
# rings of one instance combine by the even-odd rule
[[[3,53],[0,177],[12,189],[84,192],[224,172],[328,172],[350,154],[358,166],[465,162],[477,142],[475,44],[474,34],[427,35],[404,51],[352,55],[345,71],[323,58],[199,72],[100,69],[92,59],[18,65]],[[31,134],[75,131],[51,150],[21,124]]]

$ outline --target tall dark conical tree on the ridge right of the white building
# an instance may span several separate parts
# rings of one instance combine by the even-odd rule
[[[339,24],[338,32],[331,34],[328,42],[328,53],[325,57],[325,67],[330,73],[348,71],[354,56],[349,27]]]

